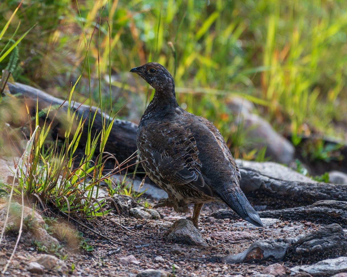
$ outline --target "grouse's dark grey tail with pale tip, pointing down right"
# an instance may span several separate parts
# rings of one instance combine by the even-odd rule
[[[232,189],[223,188],[222,190],[223,191],[219,195],[223,201],[239,216],[241,216],[244,220],[251,222],[255,226],[263,226],[258,213],[248,202],[247,197],[238,186]]]

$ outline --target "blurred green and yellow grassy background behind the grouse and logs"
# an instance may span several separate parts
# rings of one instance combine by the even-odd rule
[[[18,4],[2,1],[0,29]],[[82,74],[77,100],[119,118],[132,103],[143,111],[152,92],[129,70],[156,61],[174,76],[178,102],[213,121],[229,145],[246,143],[230,128],[233,95],[296,145],[303,135],[346,139],[346,11],[343,0],[31,0],[0,51],[36,24],[18,44],[15,80],[64,98]]]

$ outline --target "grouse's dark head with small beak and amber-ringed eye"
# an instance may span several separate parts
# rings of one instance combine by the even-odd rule
[[[146,63],[137,66],[130,72],[140,75],[155,90],[170,90],[175,88],[174,78],[160,63]]]

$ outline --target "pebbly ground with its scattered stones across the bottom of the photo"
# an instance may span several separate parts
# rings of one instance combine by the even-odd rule
[[[116,202],[117,202],[116,198]],[[119,200],[120,202],[122,200]],[[147,198],[147,202],[153,204],[154,199]],[[251,261],[248,263],[225,263],[225,258],[233,257],[247,250],[251,244],[258,240],[274,240],[279,238],[295,238],[300,234],[310,234],[320,230],[323,226],[313,222],[288,222],[279,219],[263,219],[264,227],[255,227],[243,220],[215,219],[209,217],[213,212],[226,208],[220,203],[210,203],[202,209],[202,218],[199,221],[202,246],[189,245],[189,239],[183,234],[168,240],[170,227],[173,222],[185,216],[176,214],[171,208],[158,208],[162,218],[155,218],[156,213],[147,213],[148,210],[125,199],[122,207],[119,206],[123,216],[113,212],[93,223],[74,223],[70,220],[65,224],[75,230],[83,232],[83,237],[90,239],[87,243],[94,250],[87,252],[81,248],[66,245],[66,259],[58,259],[56,255],[47,255],[38,251],[38,247],[32,244],[33,238],[44,237],[42,233],[27,228],[22,233],[18,248],[5,272],[5,276],[332,276],[338,272],[347,272],[347,258],[344,257],[342,268],[325,266],[320,273],[312,275],[298,275],[302,271],[302,261],[288,260],[276,262],[273,257],[263,261]],[[132,211],[130,211],[132,209]],[[135,209],[135,210],[134,210]],[[142,216],[136,211],[142,211]],[[2,206],[1,222],[6,216],[6,205]],[[127,215],[128,212],[132,215]],[[25,209],[32,215],[32,209]],[[11,213],[10,213],[11,214]],[[39,218],[44,212],[35,213]],[[137,214],[137,215],[136,215]],[[148,216],[146,216],[146,214]],[[134,218],[147,217],[147,218]],[[153,219],[149,219],[153,218]],[[9,222],[16,220],[10,216]],[[8,222],[8,224],[9,224]],[[189,224],[188,224],[189,225]],[[15,230],[7,230],[1,243],[0,264],[3,268],[10,258],[15,247],[18,233]],[[51,243],[48,240],[48,243]],[[199,244],[199,243],[196,243]],[[254,258],[259,258],[262,253],[253,253]],[[260,255],[260,256],[259,256]],[[341,253],[340,256],[347,256]],[[337,262],[337,261],[333,261]],[[318,265],[319,266],[319,265]],[[296,268],[295,268],[296,267]],[[332,269],[331,269],[332,268]],[[144,271],[153,269],[156,271]],[[160,271],[161,270],[161,271]],[[322,273],[323,272],[323,273]],[[339,277],[347,276],[338,275]]]

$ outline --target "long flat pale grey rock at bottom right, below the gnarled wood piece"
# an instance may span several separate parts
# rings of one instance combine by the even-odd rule
[[[304,271],[311,274],[313,277],[328,277],[339,272],[347,271],[347,257],[327,259],[314,263],[313,265],[295,266],[290,268],[290,271],[290,275],[295,275]]]

